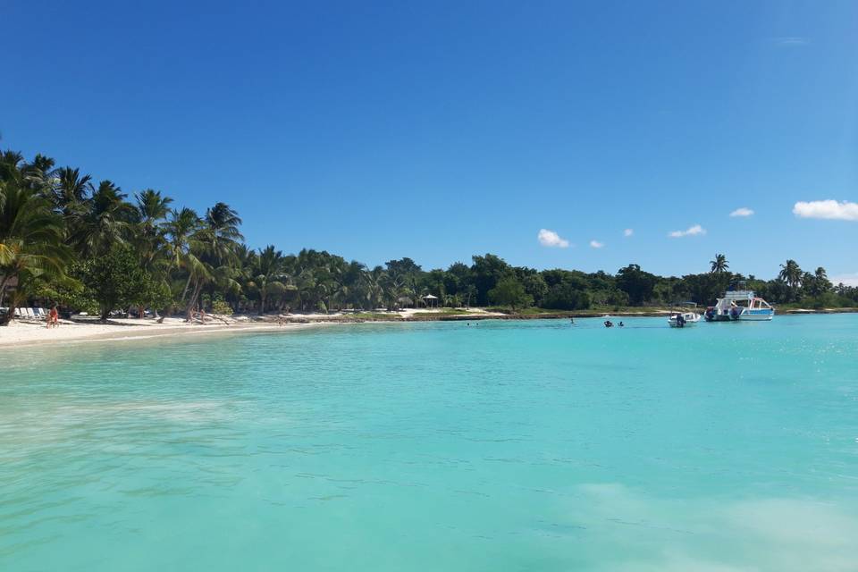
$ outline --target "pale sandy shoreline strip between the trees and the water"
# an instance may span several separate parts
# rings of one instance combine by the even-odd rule
[[[858,308],[790,308],[780,310],[780,315],[826,315],[854,314]],[[365,313],[367,314],[367,313]],[[11,326],[0,327],[0,349],[26,348],[55,343],[81,343],[88,341],[136,341],[155,338],[181,337],[185,339],[198,335],[240,334],[255,332],[300,332],[309,328],[337,324],[415,324],[421,322],[475,322],[482,320],[556,320],[569,318],[610,317],[663,317],[670,310],[660,308],[644,311],[618,311],[608,313],[592,312],[545,312],[539,314],[501,314],[475,310],[467,314],[449,314],[444,312],[403,312],[371,313],[372,315],[288,315],[282,324],[271,315],[237,316],[223,321],[215,318],[209,324],[186,324],[181,318],[166,318],[164,324],[154,319],[114,319],[106,324],[90,320],[63,320],[59,328],[48,330],[44,323],[14,322]]]

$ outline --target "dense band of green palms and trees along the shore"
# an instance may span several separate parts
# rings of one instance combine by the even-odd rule
[[[116,309],[162,315],[198,307],[216,313],[416,307],[425,295],[444,307],[711,304],[731,284],[774,304],[854,306],[858,289],[829,282],[825,269],[794,260],[769,281],[729,272],[717,255],[706,273],[662,277],[627,265],[616,274],[512,266],[492,254],[471,264],[424,270],[410,258],[369,268],[324,251],[283,254],[244,243],[241,219],[218,202],[198,213],[153,189],[129,197],[113,181],[94,181],[37,155],[0,156],[0,307],[58,303],[105,319]],[[7,323],[11,313],[2,318]]]

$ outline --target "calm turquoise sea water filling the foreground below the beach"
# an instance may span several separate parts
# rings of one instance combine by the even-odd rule
[[[858,315],[0,354],[0,570],[855,570]]]

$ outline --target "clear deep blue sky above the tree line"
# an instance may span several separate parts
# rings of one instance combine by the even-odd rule
[[[813,202],[858,201],[854,2],[0,12],[0,145],[223,200],[251,246],[668,274],[723,252],[736,272],[792,257],[858,281],[858,221],[820,218],[858,216]]]

